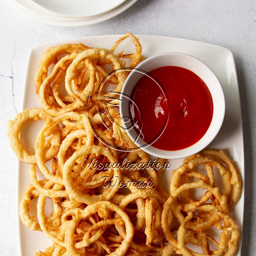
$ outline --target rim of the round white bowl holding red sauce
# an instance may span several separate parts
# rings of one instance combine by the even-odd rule
[[[135,67],[135,69],[141,69],[141,66],[145,65],[146,63],[156,59],[156,58],[159,58],[159,57],[166,57],[167,55],[172,55],[172,56],[186,56],[188,58],[190,58],[191,60],[195,60],[195,61],[199,61],[199,63],[204,66],[206,69],[208,69],[212,75],[212,77],[216,80],[217,84],[218,84],[218,94],[219,94],[219,99],[221,99],[221,102],[222,102],[222,108],[220,111],[220,113],[218,113],[218,115],[221,114],[220,116],[220,120],[219,120],[219,123],[217,125],[214,126],[214,130],[212,131],[211,134],[208,135],[208,139],[206,140],[205,143],[201,143],[200,144],[200,141],[202,140],[202,138],[204,138],[205,134],[207,134],[207,132],[204,134],[204,136],[198,141],[196,142],[195,144],[199,143],[197,145],[197,151],[195,152],[194,151],[191,151],[190,153],[181,153],[181,151],[189,151],[189,149],[191,147],[193,147],[195,144],[189,146],[189,147],[186,147],[184,149],[181,149],[181,150],[175,150],[175,151],[166,151],[166,150],[161,150],[161,149],[158,149],[156,147],[153,147],[151,145],[148,145],[146,147],[143,147],[141,148],[143,151],[145,151],[146,153],[150,154],[150,155],[153,155],[153,156],[156,156],[156,157],[160,157],[160,158],[166,158],[166,159],[180,159],[180,158],[185,158],[187,156],[190,156],[190,155],[193,155],[195,153],[198,153],[200,152],[201,150],[203,150],[205,147],[207,147],[213,140],[214,138],[217,136],[219,130],[221,129],[222,127],[222,124],[223,124],[223,120],[224,120],[224,116],[225,116],[225,95],[224,95],[224,91],[223,91],[223,88],[222,88],[222,85],[218,79],[218,77],[216,76],[216,74],[213,72],[213,70],[207,65],[205,64],[203,61],[201,61],[200,59],[194,57],[194,56],[191,56],[191,55],[188,55],[188,54],[184,54],[184,53],[177,53],[177,52],[167,52],[167,53],[161,53],[161,54],[157,54],[157,55],[154,55],[154,56],[151,56],[145,60],[143,60],[141,63],[139,63],[139,65],[137,65]],[[160,67],[165,67],[166,65],[163,65],[163,66],[159,66],[158,68]],[[170,65],[171,66],[171,65]],[[141,69],[143,70],[143,69]],[[190,71],[194,72],[193,70],[189,69]],[[150,72],[150,71],[147,71],[147,72]],[[125,89],[126,89],[126,86],[128,85],[129,83],[129,80],[131,79],[131,77],[134,75],[134,73],[136,72],[130,72],[130,74],[127,76],[125,82],[124,82],[124,85],[122,87],[122,90],[121,90],[121,96],[122,94],[124,94],[125,92]],[[199,76],[200,77],[200,76]],[[200,77],[201,78],[201,77]],[[201,78],[202,79],[202,78]],[[203,79],[202,79],[203,80]],[[204,80],[203,80],[204,81]],[[206,83],[205,83],[206,84]],[[206,84],[207,85],[207,84]],[[209,86],[207,85],[207,87],[209,88]],[[209,88],[210,90],[210,88]],[[212,91],[210,90],[211,94],[212,94]],[[129,95],[130,96],[130,95]],[[214,104],[214,100],[213,100],[213,104]],[[121,117],[123,116],[123,103],[122,103],[122,100],[120,101],[120,115]],[[215,112],[216,113],[216,112]],[[214,113],[213,113],[214,115]],[[215,114],[216,115],[216,114]],[[125,126],[125,123],[123,122],[123,120],[121,119],[122,121],[122,124]],[[212,125],[212,121],[211,121],[211,124],[209,126],[209,128],[211,127]],[[209,130],[208,128],[208,130]],[[207,131],[208,131],[207,130]],[[128,136],[132,139],[133,137],[131,136],[131,133],[130,131],[126,131]],[[135,143],[136,144],[136,143]],[[137,144],[136,144],[137,145]],[[154,151],[152,151],[152,148]],[[139,148],[140,149],[140,148]],[[139,150],[138,149],[138,150]],[[163,152],[166,152],[166,153],[163,153]],[[176,152],[177,154],[173,154],[174,152]],[[170,154],[172,153],[172,154]]]

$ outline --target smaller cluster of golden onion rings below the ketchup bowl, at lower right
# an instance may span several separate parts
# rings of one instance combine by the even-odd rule
[[[223,191],[215,185],[217,172],[222,177]],[[193,194],[199,189],[205,193],[196,200]],[[239,200],[241,189],[238,169],[225,150],[206,149],[185,158],[183,165],[172,172],[170,196],[163,205],[162,230],[169,244],[162,255],[174,251],[185,256],[234,255],[240,231],[229,212]],[[219,242],[210,236],[213,227],[222,231]],[[190,250],[186,243],[200,246],[203,253]]]

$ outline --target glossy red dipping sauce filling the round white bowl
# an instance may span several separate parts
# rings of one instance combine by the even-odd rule
[[[161,150],[181,150],[198,142],[207,132],[213,116],[212,95],[207,85],[194,72],[175,66],[150,71],[166,91],[144,75],[134,86],[131,98],[140,106],[134,112],[129,104],[130,118],[142,127],[140,137]],[[169,114],[169,119],[168,115]],[[167,123],[166,123],[166,120]]]

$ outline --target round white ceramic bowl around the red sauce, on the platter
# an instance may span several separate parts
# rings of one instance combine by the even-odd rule
[[[221,83],[214,72],[201,60],[190,55],[182,53],[163,53],[142,61],[136,68],[150,72],[151,70],[165,66],[177,66],[189,69],[197,74],[208,86],[213,99],[213,117],[209,129],[197,143],[177,151],[160,150],[151,145],[145,146],[145,142],[141,138],[136,140],[137,132],[134,131],[134,129],[126,129],[126,132],[133,141],[136,141],[135,144],[138,147],[141,147],[141,149],[148,154],[166,159],[177,159],[193,155],[203,150],[203,148],[207,147],[216,137],[219,129],[222,126],[225,115],[225,97]],[[130,96],[134,85],[144,75],[143,72],[138,71],[139,70],[134,69],[130,72],[121,91],[121,118],[124,116],[129,117],[129,101],[124,100],[123,95]],[[123,126],[127,128],[127,123],[124,122],[124,118],[122,119],[122,122]]]

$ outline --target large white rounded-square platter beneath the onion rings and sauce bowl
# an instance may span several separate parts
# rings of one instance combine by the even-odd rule
[[[41,108],[39,98],[35,94],[34,75],[37,70],[41,54],[47,47],[65,43],[81,42],[88,46],[111,48],[113,43],[117,39],[119,39],[119,37],[119,35],[103,35],[96,37],[77,38],[50,44],[44,44],[31,49],[27,63],[22,110],[36,107]],[[209,148],[215,148],[218,150],[220,150],[221,148],[225,148],[231,159],[235,161],[240,171],[242,180],[244,181],[242,117],[237,73],[232,53],[229,51],[229,49],[221,46],[191,41],[187,39],[153,35],[138,35],[138,38],[142,44],[143,55],[145,58],[165,52],[185,53],[203,61],[217,75],[219,81],[222,84],[225,94],[226,112],[222,128],[219,131],[217,137],[210,144]],[[126,49],[127,53],[131,52],[133,49],[131,42],[129,42],[128,40],[125,40],[122,43],[122,47]],[[21,138],[23,139],[23,141],[26,141],[26,145],[29,145],[31,148],[33,147],[33,142],[39,129],[40,127],[37,125],[32,126],[32,128],[30,127],[30,129],[27,128],[22,130],[23,134],[21,134]],[[29,134],[29,137],[26,136],[27,134]],[[31,141],[31,138],[33,139],[33,141]],[[170,163],[172,164],[171,169],[165,171],[161,178],[161,182],[166,189],[169,186],[171,171],[182,164],[182,159],[170,160]],[[30,184],[28,168],[29,165],[19,161],[18,204],[23,191],[25,190],[26,186]],[[234,217],[240,227],[241,235],[243,229],[243,210],[244,189],[242,190],[241,199],[238,201],[236,207],[231,212],[231,215]],[[19,217],[18,228],[20,255],[33,255],[34,252],[44,250],[44,248],[51,245],[51,241],[46,237],[44,233],[29,230],[22,224]],[[236,253],[237,256],[241,255],[241,245],[242,238],[240,239],[240,247]]]

